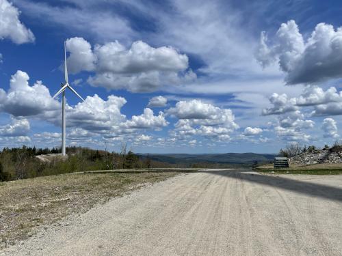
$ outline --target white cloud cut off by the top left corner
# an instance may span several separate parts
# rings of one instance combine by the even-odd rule
[[[0,0],[0,39],[16,44],[34,42],[34,34],[19,20],[20,11],[7,0]]]

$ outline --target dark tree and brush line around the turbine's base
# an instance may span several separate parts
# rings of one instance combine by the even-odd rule
[[[145,169],[152,167],[147,156],[140,159],[126,145],[120,152],[92,150],[88,147],[66,147],[67,159],[49,156],[42,161],[36,156],[59,154],[60,148],[5,147],[0,152],[0,181],[20,180],[29,177],[110,169]],[[45,156],[44,156],[45,157]]]

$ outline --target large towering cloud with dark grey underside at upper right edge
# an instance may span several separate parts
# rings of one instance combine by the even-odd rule
[[[278,29],[272,46],[267,46],[265,32],[261,33],[257,59],[263,66],[276,59],[290,85],[341,78],[341,36],[341,28],[319,23],[311,36],[304,40],[295,21],[289,20]]]

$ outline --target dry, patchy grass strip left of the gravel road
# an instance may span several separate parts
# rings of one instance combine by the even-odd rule
[[[0,248],[176,172],[77,173],[0,182]]]

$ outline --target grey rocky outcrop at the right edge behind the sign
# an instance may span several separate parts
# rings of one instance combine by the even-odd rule
[[[315,165],[321,163],[342,163],[342,152],[331,152],[330,150],[316,150],[304,152],[289,159],[292,165]]]

